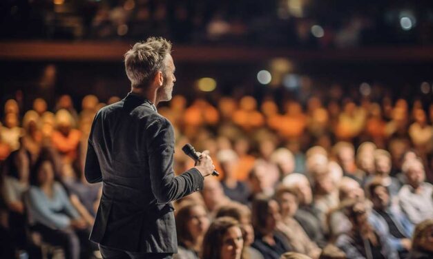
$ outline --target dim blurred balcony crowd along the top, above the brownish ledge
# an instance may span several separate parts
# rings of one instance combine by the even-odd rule
[[[350,48],[431,45],[430,1],[8,0],[3,39],[146,39]]]

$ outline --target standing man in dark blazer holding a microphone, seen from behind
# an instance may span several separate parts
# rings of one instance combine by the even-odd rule
[[[215,168],[203,152],[195,167],[173,173],[174,133],[155,105],[176,81],[171,43],[151,37],[125,54],[131,92],[95,116],[85,175],[103,182],[90,240],[104,258],[171,258],[177,252],[171,201],[203,188]]]

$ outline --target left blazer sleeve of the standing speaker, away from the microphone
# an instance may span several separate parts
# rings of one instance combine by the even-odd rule
[[[98,114],[95,116],[95,119],[93,120],[92,129],[90,130],[90,134],[88,137],[86,162],[84,164],[84,176],[86,177],[88,183],[102,182],[101,167],[99,166],[99,160],[97,158],[97,154],[95,152],[95,146],[93,145],[93,141],[92,141],[93,130],[97,123]]]

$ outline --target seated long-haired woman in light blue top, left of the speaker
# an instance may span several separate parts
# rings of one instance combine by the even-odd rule
[[[90,244],[88,226],[68,200],[64,187],[55,181],[50,160],[37,161],[30,175],[30,185],[28,202],[32,230],[41,234],[44,242],[61,246],[67,259],[80,258],[80,241],[87,246]]]

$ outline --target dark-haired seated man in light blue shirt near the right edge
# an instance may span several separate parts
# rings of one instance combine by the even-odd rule
[[[389,190],[381,178],[375,178],[368,186],[373,209],[369,215],[370,224],[387,238],[389,245],[398,251],[400,258],[406,258],[411,249],[414,225],[398,207],[392,205]]]

